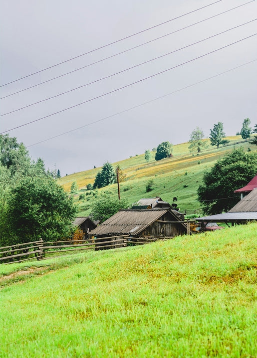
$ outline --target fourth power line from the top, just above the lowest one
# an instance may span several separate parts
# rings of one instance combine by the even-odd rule
[[[224,48],[227,48],[227,47],[229,47],[229,46],[232,46],[232,45],[234,45],[234,44],[236,44],[236,43],[239,43],[239,42],[241,42],[241,41],[244,41],[244,40],[246,40],[246,39],[248,39],[248,38],[251,38],[251,37],[253,37],[253,36],[256,36],[256,35],[257,35],[257,33],[254,33],[253,35],[250,35],[250,36],[247,36],[247,37],[245,37],[245,38],[242,38],[241,40],[232,42],[232,43],[230,43],[230,44],[228,44],[228,45],[225,45],[225,46],[223,46],[223,47],[217,48],[216,50],[213,50],[213,51],[210,51],[210,52],[208,52],[208,53],[205,53],[204,55],[201,55],[201,56],[195,57],[195,58],[193,58],[193,59],[191,59],[191,60],[188,60],[188,61],[186,61],[186,62],[180,63],[179,65],[170,67],[170,68],[168,68],[168,69],[166,69],[166,70],[163,70],[163,71],[158,72],[158,73],[155,73],[155,74],[153,74],[153,75],[151,75],[151,76],[142,78],[142,79],[140,79],[140,80],[138,80],[138,81],[129,83],[129,84],[125,85],[125,86],[116,88],[115,90],[112,90],[112,91],[110,91],[110,92],[101,94],[101,95],[99,95],[99,96],[97,96],[97,97],[90,98],[90,99],[88,99],[88,100],[86,100],[86,101],[84,101],[84,102],[80,102],[80,103],[77,103],[77,104],[75,104],[75,105],[73,105],[73,106],[64,108],[64,109],[62,109],[62,110],[60,110],[60,111],[57,111],[57,112],[48,114],[47,116],[44,116],[44,117],[35,119],[35,120],[33,120],[33,121],[30,121],[30,122],[27,122],[27,123],[24,123],[24,124],[21,124],[21,125],[19,125],[19,126],[17,126],[17,127],[14,127],[14,128],[10,128],[10,129],[8,129],[7,131],[1,132],[0,134],[13,131],[14,129],[17,129],[17,128],[20,128],[20,127],[27,126],[28,124],[38,122],[38,121],[40,121],[40,120],[42,120],[42,119],[51,117],[51,116],[53,116],[53,115],[55,115],[55,114],[62,113],[62,112],[67,111],[67,110],[69,110],[69,109],[71,109],[71,108],[78,107],[78,106],[80,106],[80,105],[82,105],[82,104],[85,104],[85,103],[88,103],[88,102],[93,101],[93,100],[95,100],[95,99],[104,97],[104,96],[106,96],[106,95],[108,95],[108,94],[117,92],[117,91],[119,91],[119,90],[121,90],[121,89],[130,87],[130,86],[132,86],[132,85],[134,85],[134,84],[140,83],[140,82],[145,81],[145,80],[147,80],[147,79],[149,79],[149,78],[153,78],[153,77],[158,76],[158,75],[160,75],[160,74],[162,74],[162,73],[168,72],[168,71],[170,71],[170,70],[172,70],[172,69],[174,69],[174,68],[183,66],[183,65],[185,65],[185,64],[187,64],[187,63],[190,63],[190,62],[195,61],[195,60],[197,60],[197,59],[199,59],[199,58],[202,58],[202,57],[205,57],[205,56],[207,56],[207,55],[210,55],[211,53],[214,53],[214,52],[217,52],[217,51],[222,50],[222,49],[224,49]]]

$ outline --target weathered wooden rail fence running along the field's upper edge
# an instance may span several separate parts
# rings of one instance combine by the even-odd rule
[[[72,251],[81,250],[107,250],[120,247],[143,245],[157,240],[165,240],[164,237],[130,237],[129,235],[109,236],[85,240],[50,241],[43,240],[26,242],[12,246],[0,247],[0,264],[22,262],[26,260],[42,260],[55,257]]]

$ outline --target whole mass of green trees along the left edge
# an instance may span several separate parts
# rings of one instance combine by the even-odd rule
[[[72,234],[76,207],[58,177],[15,137],[0,135],[0,246]]]

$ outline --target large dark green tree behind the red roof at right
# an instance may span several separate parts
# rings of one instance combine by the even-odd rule
[[[230,210],[239,197],[234,190],[245,186],[257,173],[257,152],[234,150],[220,159],[211,171],[204,174],[203,184],[197,189],[198,200],[207,214]]]

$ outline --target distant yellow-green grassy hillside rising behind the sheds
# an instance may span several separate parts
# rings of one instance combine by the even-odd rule
[[[181,211],[200,208],[197,201],[196,190],[202,181],[203,174],[209,170],[215,162],[231,152],[234,148],[243,146],[256,150],[256,146],[242,141],[241,136],[227,137],[230,145],[217,149],[209,146],[203,153],[190,153],[188,143],[173,147],[173,158],[163,159],[156,162],[153,159],[147,163],[144,154],[113,163],[113,167],[120,165],[126,179],[120,185],[122,198],[127,198],[129,203],[134,203],[143,197],[161,196],[163,200],[172,203],[173,197],[178,198],[178,207]],[[209,141],[209,140],[208,140]],[[85,157],[86,161],[86,157]],[[86,190],[86,185],[93,184],[96,174],[100,168],[75,173],[60,179],[64,189],[69,191],[71,183],[76,181],[85,199],[79,200],[79,194],[75,200],[78,204],[79,214],[87,216],[94,200],[101,197],[117,197],[117,185],[109,185],[96,191]],[[154,189],[146,192],[146,183],[149,179],[154,180]]]

